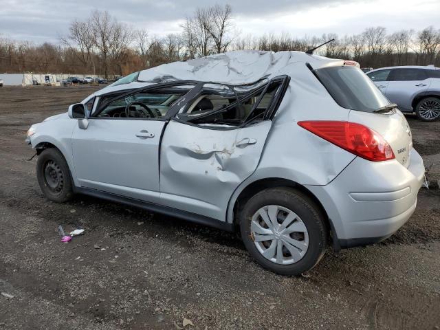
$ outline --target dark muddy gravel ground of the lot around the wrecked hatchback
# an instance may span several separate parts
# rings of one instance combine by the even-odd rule
[[[440,329],[440,191],[390,239],[329,249],[300,277],[254,263],[234,235],[90,197],[43,198],[30,124],[94,87],[0,88],[1,329]],[[408,116],[440,179],[440,122]],[[58,224],[85,235],[60,243]]]

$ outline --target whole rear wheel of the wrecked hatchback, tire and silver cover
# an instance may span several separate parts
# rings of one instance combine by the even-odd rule
[[[311,270],[327,248],[325,218],[294,188],[267,188],[239,212],[243,243],[256,261],[282,275]]]

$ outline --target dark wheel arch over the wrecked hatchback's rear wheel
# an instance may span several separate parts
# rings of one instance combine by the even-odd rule
[[[298,182],[293,181],[291,179],[285,179],[283,177],[266,177],[263,179],[258,179],[256,181],[252,181],[250,184],[245,186],[241,192],[239,192],[239,195],[230,200],[230,208],[228,208],[228,219],[232,221],[233,225],[236,226],[238,223],[236,222],[236,216],[240,211],[240,208],[245,205],[245,203],[254,195],[256,195],[258,192],[261,192],[262,190],[266,188],[275,188],[275,187],[286,187],[286,188],[296,188],[300,190],[300,192],[303,192],[303,194],[307,195],[312,201],[316,203],[318,208],[320,209],[320,212],[322,212],[322,215],[325,219],[325,225],[327,227],[327,230],[330,234],[329,239],[331,239],[331,243],[333,244],[333,248],[337,251],[340,250],[338,237],[336,234],[336,230],[333,226],[333,223],[331,222],[331,219],[329,218],[324,206],[322,206],[322,203],[320,200],[305,186],[302,184],[298,184]],[[233,203],[233,204],[232,204]],[[232,213],[232,214],[229,214]]]

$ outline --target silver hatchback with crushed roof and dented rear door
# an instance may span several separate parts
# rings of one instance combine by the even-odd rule
[[[376,243],[410,218],[425,168],[358,63],[230,52],[126,76],[30,127],[44,195],[74,193],[238,230],[278,274]]]

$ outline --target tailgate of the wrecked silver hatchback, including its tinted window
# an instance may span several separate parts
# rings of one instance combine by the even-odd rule
[[[398,110],[384,110],[391,102],[358,67],[331,66],[314,70],[333,99],[350,109],[349,122],[357,122],[380,133],[393,148],[400,164],[409,166],[412,148],[410,127]]]

